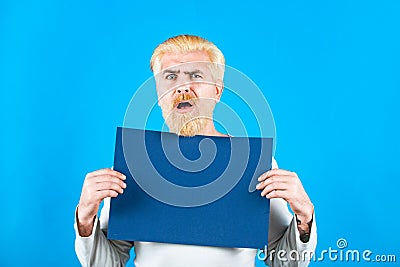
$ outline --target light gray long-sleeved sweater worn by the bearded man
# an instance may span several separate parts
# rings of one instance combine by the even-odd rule
[[[277,168],[275,161],[273,168]],[[310,240],[303,243],[295,217],[289,212],[287,203],[283,199],[271,199],[270,203],[267,255],[249,248],[108,240],[106,233],[109,198],[104,200],[100,219],[95,218],[93,232],[88,237],[79,236],[75,214],[75,251],[82,266],[125,266],[132,247],[135,249],[136,267],[254,267],[257,255],[259,258],[265,258],[265,263],[269,266],[307,266],[310,252],[315,251],[317,244],[315,216]],[[294,258],[298,259],[293,260]]]

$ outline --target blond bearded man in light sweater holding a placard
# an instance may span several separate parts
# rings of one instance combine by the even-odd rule
[[[226,136],[216,130],[213,121],[213,110],[223,91],[225,66],[224,56],[214,44],[198,36],[176,36],[154,50],[150,65],[158,104],[171,132]],[[111,169],[86,175],[75,214],[75,250],[83,266],[124,266],[132,247],[137,267],[255,266],[256,249],[107,240],[110,198],[123,194],[125,179]],[[307,259],[295,256],[315,250],[316,224],[313,204],[299,178],[296,173],[278,169],[273,160],[273,169],[258,180],[260,194],[271,200],[265,262],[270,266],[308,265]],[[287,203],[295,215],[291,215]],[[280,250],[286,255],[278,253]]]

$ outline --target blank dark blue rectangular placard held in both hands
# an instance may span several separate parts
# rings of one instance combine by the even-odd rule
[[[216,154],[212,163],[200,171],[183,171],[163,153],[163,149],[178,142],[182,154],[195,162],[201,156],[199,146],[205,139],[214,142]],[[136,153],[143,150],[143,144],[146,154]],[[182,207],[163,203],[143,191],[132,176],[132,173],[152,173],[153,170],[145,169],[147,163],[144,161],[149,159],[158,173],[173,184],[184,187],[207,185],[217,180],[227,168],[232,168],[232,164],[228,166],[231,152],[240,153],[232,150],[233,146],[249,148],[245,170],[235,170],[243,175],[232,177],[238,180],[234,188],[206,205]],[[128,164],[127,149],[135,151],[129,157],[134,162]],[[271,158],[271,138],[182,137],[172,133],[118,128],[114,169],[127,176],[127,188],[122,195],[111,200],[107,237],[129,241],[264,248],[268,241],[269,200],[262,198],[259,191],[249,192],[249,184],[253,178],[271,169]],[[163,190],[162,187],[156,188],[155,192]]]

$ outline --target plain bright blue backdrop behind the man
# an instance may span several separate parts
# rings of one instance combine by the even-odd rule
[[[182,33],[262,88],[278,163],[315,204],[317,251],[346,238],[399,261],[399,12],[386,0],[1,1],[1,266],[79,265],[85,174],[112,165],[152,50]]]

